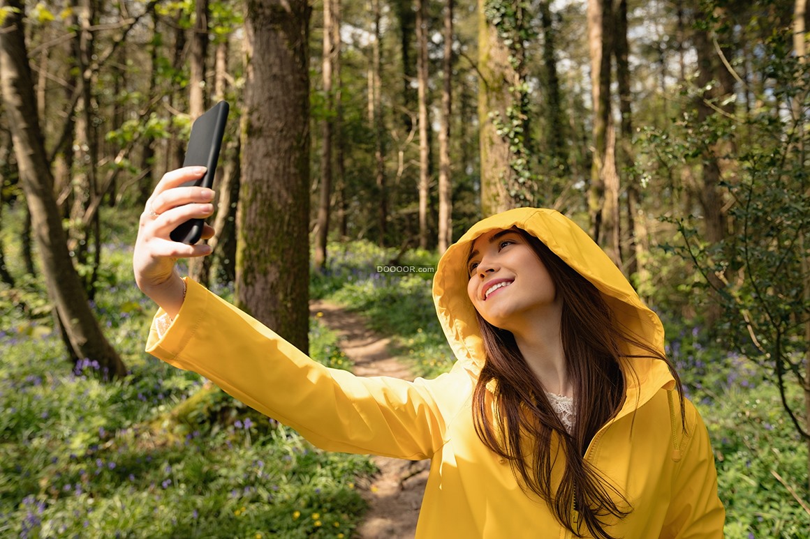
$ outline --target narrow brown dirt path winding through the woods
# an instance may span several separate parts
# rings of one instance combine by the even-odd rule
[[[363,319],[334,304],[310,303],[309,312],[322,312],[327,327],[339,332],[341,349],[354,362],[359,376],[394,376],[412,380],[407,367],[390,357],[390,339],[367,329]],[[408,539],[416,533],[416,520],[428,481],[429,460],[399,460],[373,457],[380,473],[368,485],[360,486],[369,502],[364,524],[357,530],[364,539]]]

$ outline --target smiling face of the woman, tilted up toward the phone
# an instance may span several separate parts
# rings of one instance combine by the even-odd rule
[[[559,316],[560,302],[548,269],[514,229],[490,231],[472,244],[467,295],[497,328],[514,331],[535,317]]]

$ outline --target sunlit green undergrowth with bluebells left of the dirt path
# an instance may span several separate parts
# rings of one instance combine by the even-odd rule
[[[350,537],[365,507],[356,477],[374,469],[367,457],[319,451],[143,353],[154,306],[132,282],[135,229],[123,217],[105,221],[113,278],[93,307],[130,376],[102,384],[92,359],[72,370],[49,319],[0,310],[0,536]],[[41,283],[27,286],[45,296]],[[350,367],[317,320],[309,338],[315,359]],[[164,431],[187,402],[185,421]]]

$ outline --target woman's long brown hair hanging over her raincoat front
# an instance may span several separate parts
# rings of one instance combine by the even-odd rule
[[[569,433],[552,409],[512,333],[490,325],[476,313],[486,362],[473,393],[475,431],[492,452],[509,461],[524,489],[548,503],[565,528],[582,537],[584,523],[594,537],[613,539],[605,529],[606,520],[624,518],[632,507],[584,456],[599,428],[620,410],[625,376],[635,376],[629,365],[622,371],[620,359],[629,357],[626,350],[634,346],[645,357],[669,365],[679,393],[680,380],[659,350],[620,326],[593,284],[535,236],[516,231],[548,269],[556,295],[562,299],[561,339],[573,384],[573,429]],[[487,387],[493,380],[490,392]],[[490,393],[492,397],[488,397]],[[559,484],[554,484],[552,469],[558,454],[565,457],[565,469]]]

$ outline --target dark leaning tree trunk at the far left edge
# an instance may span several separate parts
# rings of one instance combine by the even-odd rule
[[[23,33],[23,5],[19,0],[2,0],[0,6],[16,10],[8,14],[0,31],[0,92],[6,104],[19,179],[31,210],[49,297],[59,320],[67,322],[64,333],[70,342],[70,355],[98,362],[99,374],[104,378],[125,376],[126,367],[101,333],[67,251],[36,112]]]

